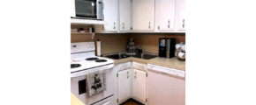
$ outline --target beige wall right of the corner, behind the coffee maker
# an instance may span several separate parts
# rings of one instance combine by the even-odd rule
[[[135,45],[141,45],[143,52],[158,53],[159,38],[176,38],[176,43],[186,42],[186,33],[132,33]]]

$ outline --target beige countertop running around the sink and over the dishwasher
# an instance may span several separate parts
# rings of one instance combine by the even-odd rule
[[[105,57],[107,58],[107,57]],[[108,58],[109,59],[109,58]],[[134,57],[129,57],[126,59],[113,59],[115,64],[127,62],[127,61],[137,61],[145,64],[154,64],[158,66],[166,66],[166,67],[171,67],[171,68],[176,68],[180,70],[186,71],[186,61],[180,61],[177,59],[177,57],[171,58],[171,59],[166,59],[166,58],[154,58],[154,59],[138,59]]]

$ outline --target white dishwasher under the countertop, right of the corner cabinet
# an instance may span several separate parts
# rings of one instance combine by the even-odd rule
[[[185,71],[147,64],[148,105],[185,105]]]

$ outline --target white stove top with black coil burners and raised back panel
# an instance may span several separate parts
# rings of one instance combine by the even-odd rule
[[[113,65],[114,60],[95,56],[95,45],[92,42],[70,43],[70,73],[104,69]]]

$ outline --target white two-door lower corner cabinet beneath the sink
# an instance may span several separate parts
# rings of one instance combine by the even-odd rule
[[[129,61],[115,66],[117,73],[116,105],[130,98],[147,105],[147,70],[144,65]]]

